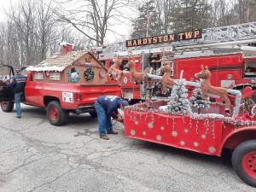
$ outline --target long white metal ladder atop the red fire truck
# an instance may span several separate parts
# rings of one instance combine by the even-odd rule
[[[231,45],[233,46],[231,48],[234,49],[237,45],[247,45],[253,43],[256,43],[256,22],[207,28],[202,30],[202,38],[166,44],[138,46],[132,49],[137,51],[141,49],[143,52],[143,49],[165,49],[165,47],[170,47],[170,45],[172,45],[175,50],[212,48],[222,47],[225,45]],[[103,53],[113,53],[127,50],[128,49],[125,47],[125,42],[119,42],[109,44],[108,47],[103,50]]]

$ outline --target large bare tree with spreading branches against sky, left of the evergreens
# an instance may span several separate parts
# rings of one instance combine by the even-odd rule
[[[67,2],[73,3],[74,0]],[[58,9],[55,14],[98,46],[104,44],[108,31],[113,32],[111,20],[124,18],[122,9],[129,6],[131,0],[80,0],[79,4],[82,4],[79,8]]]

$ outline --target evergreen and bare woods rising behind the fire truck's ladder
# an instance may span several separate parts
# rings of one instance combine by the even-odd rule
[[[255,21],[256,1],[148,0],[138,12],[132,38]]]

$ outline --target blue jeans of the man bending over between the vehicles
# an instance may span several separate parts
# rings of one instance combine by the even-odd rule
[[[113,131],[111,116],[106,113],[105,108],[103,108],[97,101],[95,102],[95,108],[99,124],[99,135],[102,137],[106,135],[106,131],[107,133]]]

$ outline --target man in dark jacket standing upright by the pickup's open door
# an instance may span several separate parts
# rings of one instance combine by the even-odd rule
[[[15,75],[10,80],[10,83],[8,84],[8,86],[15,93],[15,107],[16,107],[17,118],[21,118],[20,97],[24,93],[25,84],[26,84],[26,76],[20,73],[19,68],[15,69]]]

